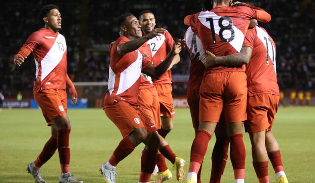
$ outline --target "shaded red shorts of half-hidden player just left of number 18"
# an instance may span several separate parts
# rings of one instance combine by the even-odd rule
[[[199,90],[187,90],[187,102],[189,105],[192,127],[199,127]]]

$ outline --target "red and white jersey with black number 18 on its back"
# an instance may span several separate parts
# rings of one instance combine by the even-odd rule
[[[216,56],[225,56],[240,52],[250,20],[259,20],[259,16],[262,16],[260,12],[261,10],[258,11],[247,6],[219,5],[210,11],[189,15],[184,22],[197,30],[195,33],[200,37],[205,50]],[[245,72],[245,65],[206,68],[207,73],[227,71]]]

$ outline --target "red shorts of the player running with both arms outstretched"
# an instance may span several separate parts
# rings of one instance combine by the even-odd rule
[[[132,106],[128,102],[119,101],[104,109],[107,117],[118,127],[123,137],[137,128],[146,128],[148,133],[157,130],[154,122],[142,112],[139,106]]]

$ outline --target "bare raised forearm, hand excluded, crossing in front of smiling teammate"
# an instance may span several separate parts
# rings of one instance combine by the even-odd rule
[[[117,52],[121,55],[125,55],[129,52],[132,52],[138,49],[142,44],[144,44],[148,40],[148,37],[139,37],[124,44],[120,44],[117,46]]]

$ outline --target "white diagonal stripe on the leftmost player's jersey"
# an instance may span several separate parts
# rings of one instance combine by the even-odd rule
[[[62,44],[63,50],[60,47],[61,45],[59,45],[59,43]],[[51,73],[55,69],[55,67],[60,63],[66,49],[67,49],[67,46],[65,43],[65,39],[64,39],[63,35],[58,33],[58,36],[57,36],[53,46],[50,48],[50,50],[45,55],[45,57],[40,61],[40,63],[41,63],[40,80],[41,81],[44,80],[45,77],[47,77],[47,75],[49,73]]]

